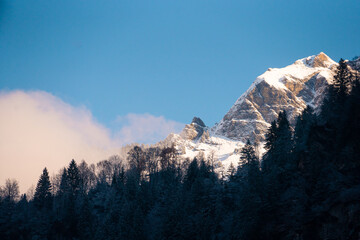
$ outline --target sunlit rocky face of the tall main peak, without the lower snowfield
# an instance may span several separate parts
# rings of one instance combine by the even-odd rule
[[[212,133],[242,142],[264,141],[266,130],[281,110],[286,110],[294,123],[306,105],[315,109],[320,106],[336,65],[320,53],[285,68],[269,68],[212,128]]]

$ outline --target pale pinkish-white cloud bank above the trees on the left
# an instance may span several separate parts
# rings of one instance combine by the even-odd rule
[[[51,173],[71,159],[96,163],[134,141],[161,140],[181,124],[150,114],[119,118],[113,134],[85,107],[74,107],[42,91],[0,92],[0,185],[16,178],[21,192],[46,166]],[[115,136],[115,137],[112,137]]]

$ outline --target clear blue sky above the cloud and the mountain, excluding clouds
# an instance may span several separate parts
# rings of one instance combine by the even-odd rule
[[[0,88],[86,106],[109,128],[149,113],[219,121],[269,67],[360,54],[360,2],[0,0]]]

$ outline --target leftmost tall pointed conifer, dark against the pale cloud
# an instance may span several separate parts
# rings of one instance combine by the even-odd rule
[[[38,208],[49,208],[51,199],[52,195],[49,173],[47,169],[44,168],[43,173],[41,174],[36,186],[34,204]]]

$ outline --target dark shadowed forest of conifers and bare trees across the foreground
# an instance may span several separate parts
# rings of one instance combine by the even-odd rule
[[[126,160],[72,160],[39,173],[34,196],[0,191],[0,239],[359,239],[360,78],[340,60],[321,111],[279,113],[259,159],[237,168],[133,147]],[[44,166],[45,167],[45,166]]]

